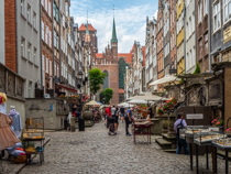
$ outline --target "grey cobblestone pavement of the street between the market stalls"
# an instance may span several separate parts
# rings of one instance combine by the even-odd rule
[[[133,137],[125,135],[124,127],[124,123],[120,123],[117,135],[108,135],[103,123],[96,123],[92,128],[86,128],[84,132],[46,132],[45,135],[51,138],[51,141],[45,146],[45,162],[42,165],[36,163],[26,165],[20,174],[195,173],[196,170],[189,171],[189,156],[163,152],[154,142],[157,138],[154,135],[152,144],[144,143],[146,137],[140,137],[134,144]],[[224,161],[218,160],[218,172],[222,174]],[[200,171],[204,171],[205,156],[200,156],[199,164]]]

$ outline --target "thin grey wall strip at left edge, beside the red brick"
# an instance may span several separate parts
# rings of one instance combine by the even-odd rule
[[[4,1],[0,1],[0,63],[4,65]]]

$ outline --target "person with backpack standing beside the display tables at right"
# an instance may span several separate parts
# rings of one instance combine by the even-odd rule
[[[185,150],[185,154],[189,154],[188,145],[187,145],[186,140],[183,140],[183,139],[179,138],[179,130],[185,129],[185,127],[187,127],[187,123],[184,119],[184,113],[179,112],[177,115],[177,118],[178,119],[174,123],[174,130],[176,131],[176,140],[177,140],[176,154],[180,154],[180,150],[182,150],[183,146],[184,146],[184,150]]]

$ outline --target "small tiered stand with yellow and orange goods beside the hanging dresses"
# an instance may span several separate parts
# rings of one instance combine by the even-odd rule
[[[40,164],[44,162],[44,119],[28,118],[25,130],[23,131],[23,149],[26,154],[26,164],[31,160],[32,154],[40,155]],[[31,143],[36,142],[36,149],[29,146]]]

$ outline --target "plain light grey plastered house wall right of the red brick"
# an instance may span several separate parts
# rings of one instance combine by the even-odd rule
[[[26,79],[25,98],[33,98],[35,84],[41,84],[40,1],[16,1],[16,9],[18,74]]]

